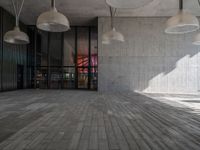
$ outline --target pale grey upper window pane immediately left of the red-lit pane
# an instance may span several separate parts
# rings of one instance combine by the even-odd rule
[[[64,33],[64,66],[75,66],[75,29]]]

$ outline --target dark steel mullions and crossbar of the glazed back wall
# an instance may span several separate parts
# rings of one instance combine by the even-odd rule
[[[33,27],[33,26],[31,26]],[[63,70],[64,68],[75,68],[75,89],[81,89],[78,87],[78,69],[79,68],[88,68],[88,85],[87,85],[87,90],[93,90],[91,89],[91,68],[97,68],[98,70],[98,66],[91,66],[91,29],[92,28],[96,28],[96,27],[88,27],[88,26],[80,26],[80,28],[88,28],[88,37],[89,37],[89,40],[88,40],[88,45],[89,45],[89,51],[88,51],[88,67],[80,67],[78,66],[78,60],[77,60],[77,56],[78,56],[78,47],[77,47],[77,44],[78,44],[78,28],[79,27],[74,27],[75,29],[75,66],[64,66],[63,63],[61,66],[51,66],[50,65],[50,47],[49,47],[49,42],[50,42],[50,36],[51,36],[51,33],[48,33],[48,45],[47,45],[47,55],[48,55],[48,66],[37,66],[37,63],[36,63],[36,50],[37,50],[37,33],[38,33],[38,30],[37,28],[34,26],[35,28],[35,38],[34,38],[34,67],[33,66],[29,66],[29,67],[33,67],[34,68],[34,88],[36,88],[36,71],[37,71],[37,68],[47,68],[48,69],[48,81],[47,81],[47,88],[50,89],[50,69],[51,68],[59,68],[61,69],[61,73],[62,73],[62,79],[61,79],[61,88],[63,89],[64,87],[64,81],[63,81]],[[62,38],[62,52],[61,52],[61,60],[63,62],[63,59],[64,59],[64,47],[63,47],[63,43],[64,43],[64,33],[61,33],[61,38]],[[98,39],[97,39],[97,42],[98,42]],[[97,43],[97,55],[98,55],[98,43]],[[97,59],[98,61],[98,59]],[[27,62],[28,64],[28,62]],[[97,75],[98,76],[98,75]],[[97,86],[98,86],[98,79],[97,79]],[[98,89],[98,87],[97,87]],[[97,89],[94,89],[94,90],[97,90]],[[83,89],[84,90],[84,89]]]

